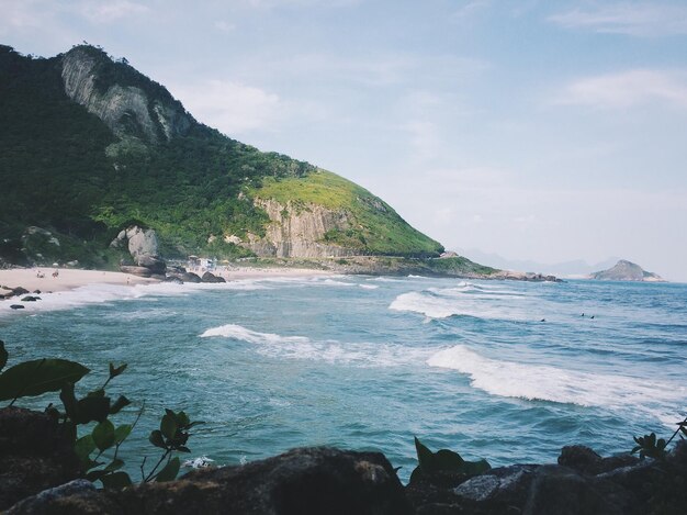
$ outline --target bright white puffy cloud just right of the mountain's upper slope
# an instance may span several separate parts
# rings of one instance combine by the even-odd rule
[[[282,111],[277,94],[235,81],[205,80],[169,90],[193,116],[229,136],[270,128]]]

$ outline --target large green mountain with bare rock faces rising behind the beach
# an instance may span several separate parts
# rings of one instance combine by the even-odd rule
[[[0,260],[113,266],[122,231],[162,256],[437,257],[443,247],[363,188],[199,123],[165,87],[79,45],[0,45]]]

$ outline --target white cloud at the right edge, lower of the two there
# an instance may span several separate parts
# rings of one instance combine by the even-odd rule
[[[687,74],[637,69],[588,77],[568,85],[553,103],[627,109],[654,101],[687,108]]]

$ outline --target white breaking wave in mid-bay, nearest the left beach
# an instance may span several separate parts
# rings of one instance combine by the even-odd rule
[[[213,327],[201,338],[224,337],[257,346],[257,351],[272,358],[304,359],[361,368],[397,367],[425,362],[431,350],[408,349],[398,345],[313,340],[306,336],[260,333],[238,324]]]

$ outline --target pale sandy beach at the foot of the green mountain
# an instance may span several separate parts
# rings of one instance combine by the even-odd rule
[[[42,293],[74,290],[89,284],[135,286],[158,282],[131,273],[102,270],[78,270],[70,268],[12,268],[0,270],[0,295],[13,288],[24,288],[30,292],[40,290]],[[236,268],[215,272],[227,281],[241,279],[261,279],[270,277],[309,277],[328,275],[322,270],[286,269],[286,268]],[[42,277],[41,277],[42,276]]]

